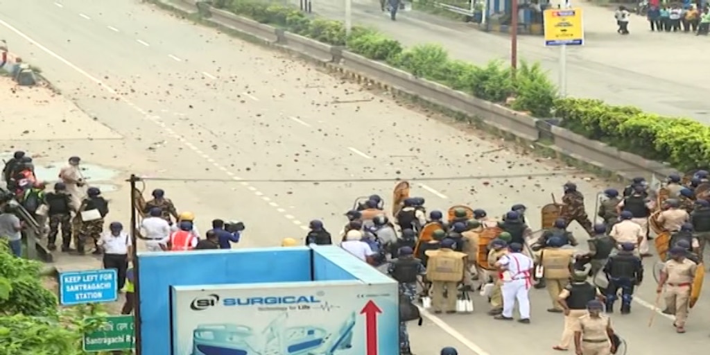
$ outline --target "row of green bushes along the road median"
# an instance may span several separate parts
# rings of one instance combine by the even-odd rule
[[[504,103],[532,116],[562,118],[562,126],[586,138],[603,141],[644,158],[665,161],[679,169],[710,161],[710,128],[690,119],[647,114],[635,107],[614,107],[595,99],[557,97],[557,87],[539,63],[521,63],[511,79],[500,61],[476,66],[449,58],[439,45],[404,49],[373,29],[355,26],[346,38],[342,22],[309,16],[290,6],[268,1],[224,0],[224,8],[262,23],[284,28],[331,45],[345,45],[366,58],[386,61],[416,77],[439,82],[490,102]]]

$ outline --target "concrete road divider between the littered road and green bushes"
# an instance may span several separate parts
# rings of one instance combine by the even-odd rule
[[[168,0],[159,0],[168,1]],[[189,0],[182,0],[189,1]],[[480,122],[493,131],[508,133],[534,144],[540,150],[554,151],[558,158],[584,168],[594,168],[614,178],[630,179],[636,176],[666,176],[674,171],[667,165],[644,159],[638,155],[619,151],[599,141],[592,141],[577,133],[555,126],[553,120],[541,120],[513,111],[499,104],[486,102],[464,92],[449,89],[442,84],[423,80],[383,62],[369,60],[343,48],[320,43],[301,35],[258,23],[249,18],[212,9],[212,22],[240,31],[293,53],[316,60],[330,62],[329,67],[354,77],[364,77],[395,94],[398,92],[435,104],[443,109],[463,114],[471,121]]]

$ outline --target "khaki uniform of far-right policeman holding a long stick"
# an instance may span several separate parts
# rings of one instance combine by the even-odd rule
[[[668,275],[665,285],[666,307],[675,314],[675,326],[679,328],[685,327],[688,319],[690,288],[696,268],[696,263],[688,259],[681,262],[671,259],[663,264],[663,273]]]

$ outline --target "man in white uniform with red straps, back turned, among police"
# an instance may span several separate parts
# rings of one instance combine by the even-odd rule
[[[518,243],[510,244],[510,253],[502,256],[496,266],[501,270],[503,277],[503,313],[494,317],[496,320],[513,320],[513,307],[518,300],[520,319],[523,324],[530,323],[530,286],[532,285],[531,272],[532,259],[523,254],[523,246]]]

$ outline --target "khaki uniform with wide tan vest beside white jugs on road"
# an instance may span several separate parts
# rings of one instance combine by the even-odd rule
[[[458,286],[466,277],[466,254],[451,249],[427,250],[425,253],[429,257],[427,280],[432,283],[434,312],[456,312]]]

